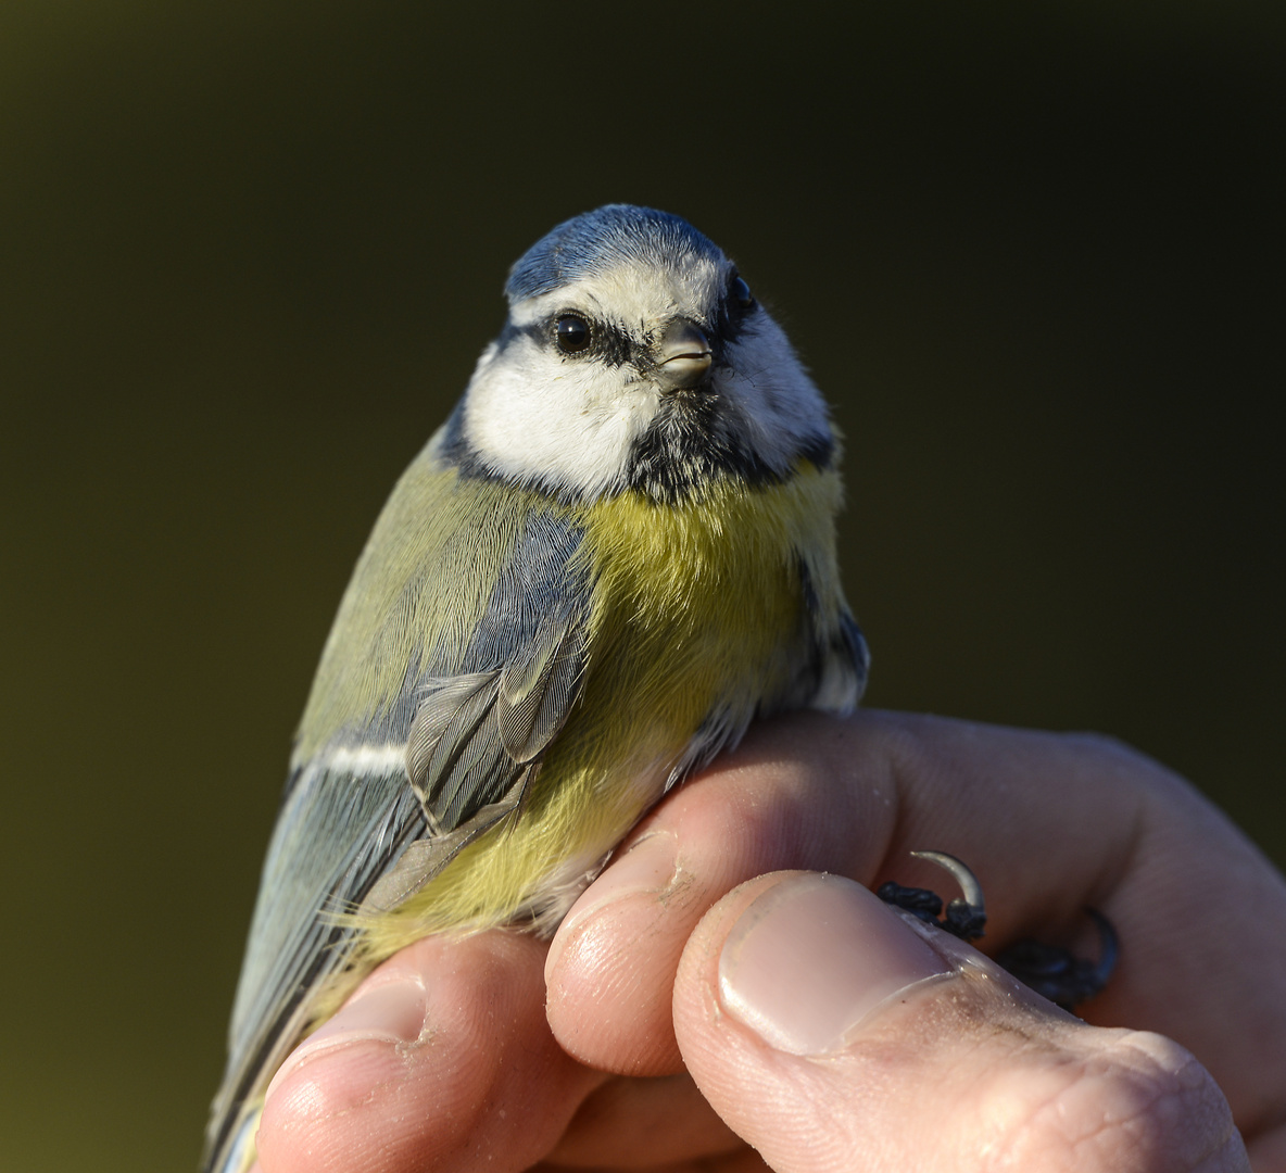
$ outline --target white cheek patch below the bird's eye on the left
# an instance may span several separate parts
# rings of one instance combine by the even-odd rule
[[[630,449],[656,414],[656,387],[628,367],[563,360],[535,342],[495,358],[478,364],[464,405],[464,435],[487,467],[590,495],[624,484]]]

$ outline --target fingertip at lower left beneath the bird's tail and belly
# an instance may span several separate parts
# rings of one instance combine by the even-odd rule
[[[544,945],[428,938],[386,962],[287,1059],[258,1131],[264,1173],[525,1169],[601,1075],[543,1014]]]

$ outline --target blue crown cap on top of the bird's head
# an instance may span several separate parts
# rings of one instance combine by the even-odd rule
[[[622,264],[683,265],[698,257],[718,262],[723,252],[687,220],[610,203],[563,221],[532,244],[509,270],[504,292],[512,304]]]

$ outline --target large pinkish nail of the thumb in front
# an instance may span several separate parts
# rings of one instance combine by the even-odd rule
[[[862,885],[809,875],[775,885],[741,914],[719,956],[719,994],[774,1050],[826,1055],[846,1047],[882,1003],[950,972]]]

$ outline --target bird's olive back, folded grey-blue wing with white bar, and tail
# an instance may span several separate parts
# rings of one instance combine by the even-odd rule
[[[579,695],[581,532],[529,496],[459,481],[435,445],[381,516],[318,673],[307,758],[264,867],[207,1170],[238,1168],[267,1079],[310,1025],[314,993],[345,968],[360,918],[340,914],[396,907],[512,812]]]

